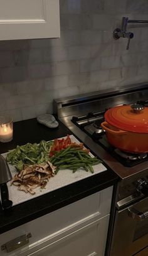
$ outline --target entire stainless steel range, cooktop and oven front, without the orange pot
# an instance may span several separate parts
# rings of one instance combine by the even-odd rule
[[[148,107],[147,84],[55,100],[61,122],[120,177],[105,256],[148,256],[148,154],[116,149],[100,127],[108,108],[139,101]]]

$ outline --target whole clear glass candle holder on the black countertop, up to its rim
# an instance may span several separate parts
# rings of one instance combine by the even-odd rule
[[[0,116],[0,141],[9,142],[13,139],[13,118],[10,115]]]

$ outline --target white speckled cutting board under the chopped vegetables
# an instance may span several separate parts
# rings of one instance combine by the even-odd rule
[[[80,143],[73,135],[71,135],[70,138],[72,142]],[[6,157],[7,154],[8,153],[4,153],[3,156]],[[90,156],[93,157],[91,153]],[[15,168],[10,164],[9,168],[12,176],[14,176],[14,174],[17,173]],[[36,192],[35,195],[25,193],[24,191],[19,191],[17,186],[11,186],[11,182],[8,182],[7,184],[9,189],[9,199],[13,201],[13,206],[18,205],[19,203],[23,203],[24,201],[31,200],[33,198],[36,198],[37,196],[44,195],[45,193],[49,193],[50,191],[53,191],[55,189],[62,188],[63,186],[66,186],[68,184],[75,183],[77,181],[80,181],[81,179],[89,178],[90,176],[101,173],[102,171],[106,171],[107,168],[105,168],[105,166],[100,163],[96,166],[93,166],[93,170],[94,173],[87,172],[83,169],[79,169],[75,173],[68,169],[60,170],[53,178],[50,178],[45,189],[41,189],[39,187],[34,189],[34,191]]]

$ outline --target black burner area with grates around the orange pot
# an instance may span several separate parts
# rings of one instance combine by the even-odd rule
[[[145,105],[147,102],[143,102]],[[148,160],[147,153],[132,154],[131,152],[120,151],[120,149],[112,146],[108,141],[101,127],[101,123],[105,121],[105,112],[88,113],[83,117],[72,117],[71,122],[77,125],[82,131],[92,138],[97,144],[102,146],[107,152],[115,157],[119,163],[124,166],[131,167]]]

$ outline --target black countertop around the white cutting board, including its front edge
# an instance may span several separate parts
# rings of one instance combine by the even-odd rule
[[[13,141],[8,143],[0,142],[0,153],[8,152],[9,149],[13,149],[17,145],[26,144],[27,142],[40,142],[42,139],[50,141],[51,139],[71,134],[71,131],[60,121],[59,124],[56,129],[49,129],[39,124],[36,119],[15,122]],[[117,174],[108,168],[107,171],[100,174],[38,196],[33,200],[13,206],[7,211],[1,211],[0,233],[23,225],[28,221],[55,211],[108,186],[112,186],[117,183],[118,179]]]

